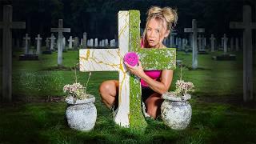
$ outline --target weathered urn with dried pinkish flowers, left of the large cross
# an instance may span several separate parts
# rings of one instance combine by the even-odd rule
[[[94,95],[86,93],[91,73],[89,73],[86,86],[77,82],[76,70],[74,69],[75,82],[63,87],[63,91],[68,94],[65,98],[68,104],[66,108],[66,120],[70,128],[75,130],[89,131],[95,126],[97,109],[94,106]]]

